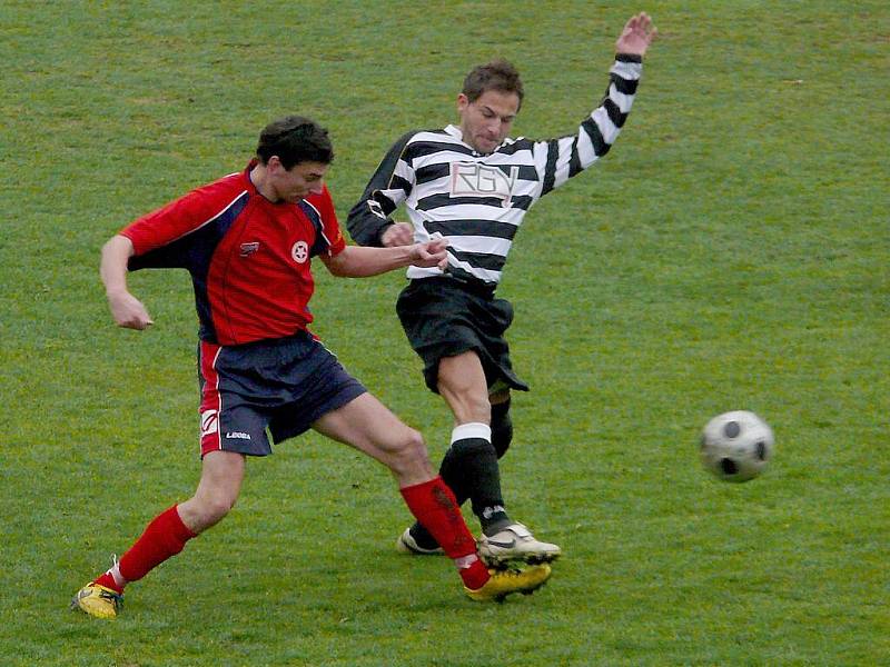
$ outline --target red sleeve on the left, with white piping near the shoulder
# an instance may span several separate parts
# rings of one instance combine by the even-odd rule
[[[132,241],[137,256],[167,246],[199,229],[226,208],[226,202],[220,205],[221,200],[215,196],[215,190],[212,185],[192,190],[158,210],[142,216],[120,230],[119,233]]]

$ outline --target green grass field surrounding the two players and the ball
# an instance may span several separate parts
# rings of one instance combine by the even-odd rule
[[[890,7],[438,4],[0,4],[0,664],[890,665]],[[525,80],[516,135],[574,131],[641,9],[661,39],[621,139],[528,215],[500,289],[533,387],[504,490],[563,546],[551,583],[464,599],[447,561],[394,551],[386,471],[309,435],[250,461],[235,511],[121,618],[70,613],[199,470],[188,278],[134,275],[156,326],[117,329],[105,240],[288,112],[330,129],[345,219],[495,54]],[[402,273],[318,269],[315,331],[438,461]],[[698,462],[730,409],[777,434],[745,485]]]

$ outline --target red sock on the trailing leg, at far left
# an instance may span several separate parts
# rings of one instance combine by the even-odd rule
[[[158,515],[136,544],[123,554],[118,564],[118,573],[125,584],[141,579],[151,568],[179,554],[192,537],[195,532],[182,522],[174,505]],[[111,570],[97,578],[96,583],[118,593],[123,590],[123,585],[115,581]]]

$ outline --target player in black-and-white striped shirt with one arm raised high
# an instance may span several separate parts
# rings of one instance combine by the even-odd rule
[[[490,565],[547,563],[561,554],[507,515],[501,492],[497,461],[513,437],[510,391],[528,387],[513,371],[504,339],[513,309],[495,289],[532,205],[612,147],[655,34],[647,14],[632,17],[615,42],[601,104],[576,133],[548,141],[507,138],[523,100],[518,72],[504,60],[476,67],[457,96],[459,125],[403,136],[349,212],[348,229],[360,245],[448,240],[444,269],[408,269],[411,282],[396,310],[424,360],[427,387],[454,415],[439,474],[459,502],[471,500],[482,526],[479,554]],[[399,206],[411,222],[390,218]],[[412,554],[442,551],[421,524],[396,546]]]

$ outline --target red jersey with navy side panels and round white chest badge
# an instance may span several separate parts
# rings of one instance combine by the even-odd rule
[[[250,181],[255,165],[120,231],[134,245],[130,270],[188,269],[208,342],[241,345],[306,329],[310,258],[346,247],[327,187],[298,203],[273,203]]]

